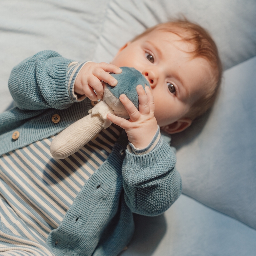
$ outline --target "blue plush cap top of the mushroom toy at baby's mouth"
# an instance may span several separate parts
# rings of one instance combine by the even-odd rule
[[[137,85],[141,84],[145,90],[145,85],[149,85],[145,76],[143,76],[140,71],[135,68],[121,67],[123,70],[121,74],[110,73],[111,76],[115,77],[117,80],[116,86],[111,86],[106,83],[106,86],[114,94],[114,96],[119,99],[121,94],[125,94],[139,109],[139,99],[136,91]]]

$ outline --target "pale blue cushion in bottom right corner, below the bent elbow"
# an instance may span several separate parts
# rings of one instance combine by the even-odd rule
[[[157,217],[135,215],[135,234],[122,256],[252,256],[256,230],[181,195]]]

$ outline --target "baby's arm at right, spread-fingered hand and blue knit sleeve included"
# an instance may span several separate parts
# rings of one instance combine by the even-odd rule
[[[123,162],[125,202],[132,212],[154,216],[166,211],[180,196],[182,185],[175,168],[176,156],[161,139],[154,117],[154,98],[146,86],[137,86],[139,109],[124,95],[120,100],[131,119],[109,115],[115,124],[123,127],[130,141]],[[131,144],[132,143],[132,144]]]

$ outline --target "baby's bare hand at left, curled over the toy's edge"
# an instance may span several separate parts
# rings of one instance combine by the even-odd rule
[[[116,86],[117,84],[117,80],[109,75],[108,72],[120,74],[122,73],[122,69],[105,62],[86,63],[76,78],[74,92],[76,94],[85,95],[92,101],[102,99],[104,90],[101,80],[111,86]],[[95,90],[97,95],[93,90]]]

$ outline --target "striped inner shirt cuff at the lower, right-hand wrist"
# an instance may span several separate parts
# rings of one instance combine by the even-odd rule
[[[134,145],[129,142],[129,144],[127,145],[127,150],[130,153],[133,153],[135,155],[144,155],[144,154],[148,154],[149,152],[151,152],[152,150],[156,149],[157,147],[159,147],[159,145],[161,144],[161,133],[160,133],[160,127],[159,125],[157,125],[157,131],[153,137],[153,139],[150,141],[150,143],[148,144],[148,146],[146,148],[135,148]]]

